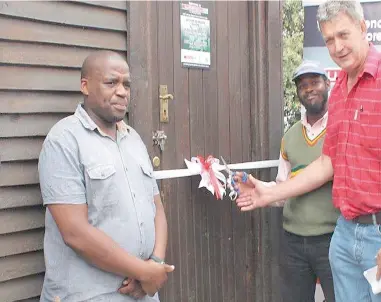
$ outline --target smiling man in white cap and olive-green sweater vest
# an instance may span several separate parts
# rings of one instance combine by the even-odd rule
[[[293,80],[306,110],[282,139],[277,183],[294,177],[321,155],[328,120],[330,82],[324,69],[317,62],[304,61]],[[331,191],[329,182],[313,192],[277,203],[284,204],[281,290],[285,302],[315,301],[317,279],[326,301],[335,300],[328,251],[339,212],[333,207]]]

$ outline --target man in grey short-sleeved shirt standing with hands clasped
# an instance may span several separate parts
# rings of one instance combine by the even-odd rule
[[[163,260],[167,221],[147,149],[123,122],[130,82],[120,55],[87,57],[84,103],[43,144],[43,302],[158,301],[174,269]]]

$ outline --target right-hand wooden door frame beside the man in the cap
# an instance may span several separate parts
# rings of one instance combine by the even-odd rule
[[[282,136],[283,108],[281,64],[282,2],[249,2],[251,156],[254,160],[279,156]],[[276,20],[274,19],[276,18]],[[276,42],[276,43],[275,43]],[[270,59],[270,57],[272,59]],[[258,77],[266,74],[267,77]],[[271,180],[270,171],[256,172],[263,180]],[[279,291],[279,243],[282,230],[282,209],[255,211],[252,238],[258,250],[253,257],[253,290],[259,301],[282,301]],[[269,269],[271,268],[271,269]],[[269,286],[273,284],[272,286]]]

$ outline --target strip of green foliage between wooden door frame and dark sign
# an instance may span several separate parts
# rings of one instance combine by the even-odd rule
[[[303,57],[304,11],[301,0],[283,2],[283,93],[285,130],[300,119],[300,103],[292,75]]]

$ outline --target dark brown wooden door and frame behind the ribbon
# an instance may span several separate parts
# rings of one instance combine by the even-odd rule
[[[280,4],[201,4],[211,23],[209,69],[181,66],[179,2],[129,3],[131,123],[150,155],[160,158],[161,170],[185,168],[184,158],[197,155],[234,163],[275,159],[282,133]],[[169,123],[159,121],[159,85],[174,96]],[[164,151],[152,143],[155,130],[168,137]],[[264,238],[262,251],[264,236],[273,232],[277,240],[279,213],[242,214],[228,198],[216,200],[198,189],[199,181],[160,181],[167,262],[176,266],[162,301],[281,301],[271,290],[276,244]],[[274,266],[265,271],[268,264]]]

